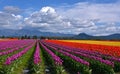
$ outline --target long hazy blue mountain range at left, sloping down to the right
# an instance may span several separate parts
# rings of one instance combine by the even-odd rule
[[[71,37],[73,34],[62,34],[62,33],[52,33],[52,32],[41,32],[38,30],[27,30],[27,29],[21,29],[21,30],[11,30],[11,29],[4,29],[0,30],[0,36],[58,36],[58,37]]]

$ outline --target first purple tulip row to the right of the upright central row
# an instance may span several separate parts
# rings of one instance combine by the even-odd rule
[[[60,59],[60,57],[58,57],[57,55],[55,55],[51,50],[49,50],[45,45],[43,45],[40,42],[41,46],[45,49],[45,51],[50,54],[50,56],[52,57],[52,59],[54,60],[56,65],[62,65],[63,60]]]

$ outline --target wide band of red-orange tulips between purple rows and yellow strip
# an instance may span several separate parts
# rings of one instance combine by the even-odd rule
[[[77,48],[79,50],[80,49],[90,50],[93,52],[100,52],[102,54],[120,57],[120,46],[86,44],[86,43],[68,42],[66,40],[65,41],[47,40],[47,42],[52,42],[52,43],[59,44],[59,45],[65,45],[68,47]]]

